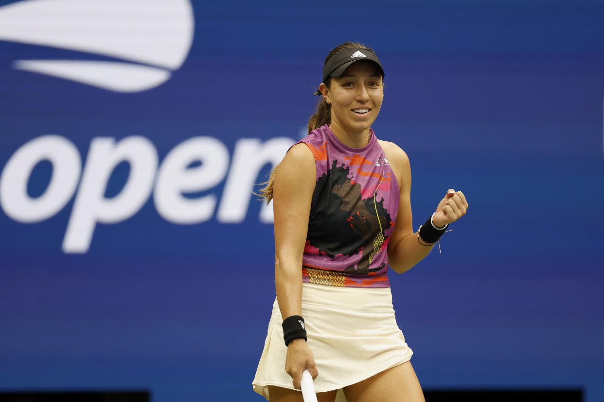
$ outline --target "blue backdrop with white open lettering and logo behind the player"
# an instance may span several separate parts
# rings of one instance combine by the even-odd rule
[[[0,1],[0,390],[262,400],[252,184],[359,40],[414,224],[449,187],[471,204],[390,275],[422,386],[604,400],[603,38],[597,0]]]

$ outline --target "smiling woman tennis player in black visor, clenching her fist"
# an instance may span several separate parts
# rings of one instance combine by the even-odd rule
[[[271,402],[302,401],[308,369],[319,402],[423,401],[388,266],[401,273],[422,260],[466,213],[466,198],[446,190],[414,231],[409,159],[370,128],[384,99],[373,50],[333,49],[316,94],[308,136],[261,193],[274,207],[277,298],[254,390]]]

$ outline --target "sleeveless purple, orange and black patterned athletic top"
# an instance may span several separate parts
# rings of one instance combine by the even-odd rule
[[[315,156],[316,184],[303,255],[303,281],[389,287],[386,248],[399,210],[399,184],[384,149],[352,148],[329,125],[304,142]]]

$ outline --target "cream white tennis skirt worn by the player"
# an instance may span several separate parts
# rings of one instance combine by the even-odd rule
[[[405,363],[413,351],[396,324],[390,287],[335,287],[303,283],[302,316],[307,344],[319,371],[316,392],[341,390],[378,372]],[[294,389],[285,372],[288,348],[277,300],[258,369],[254,391],[269,399],[269,385]],[[342,391],[338,398],[342,399]]]

